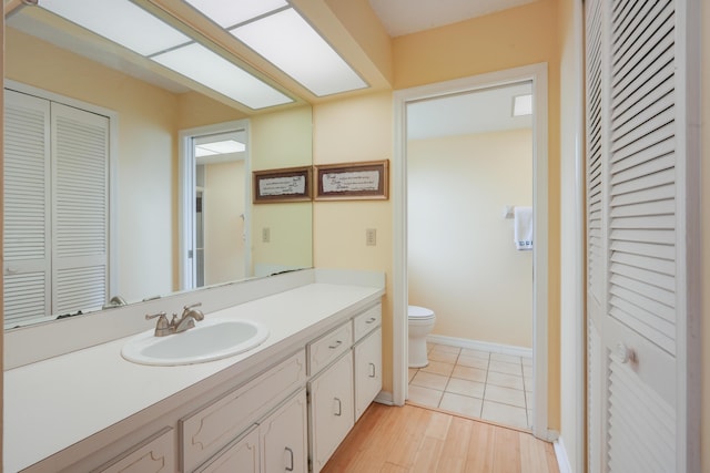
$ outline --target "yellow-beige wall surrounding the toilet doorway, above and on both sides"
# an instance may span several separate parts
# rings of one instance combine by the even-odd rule
[[[347,22],[348,24],[351,22]],[[349,24],[354,28],[353,24]],[[549,313],[548,425],[559,429],[559,48],[557,1],[530,4],[393,40],[394,89],[458,79],[538,62],[548,63]],[[357,37],[357,35],[356,35]],[[347,112],[352,111],[353,114]],[[314,160],[390,157],[392,97],[376,93],[314,105]],[[392,206],[348,202],[314,205],[314,261],[322,267],[386,268],[384,308],[385,390],[392,377],[392,251],[366,247],[365,228],[384,225],[378,241],[390,245]],[[382,224],[378,224],[382,222]],[[383,238],[384,237],[384,238]],[[376,259],[375,259],[376,258]]]

